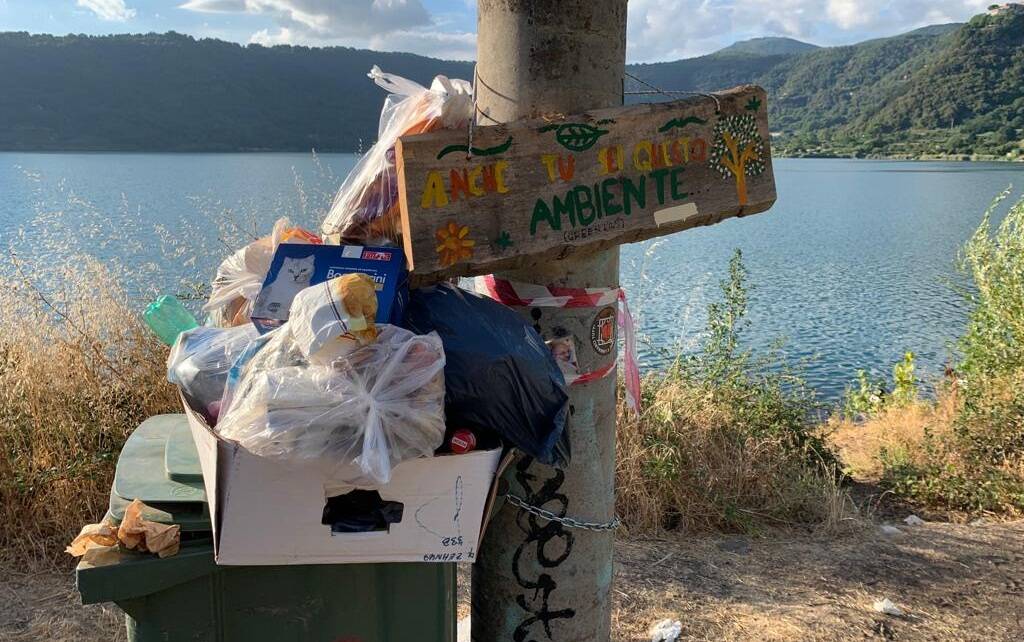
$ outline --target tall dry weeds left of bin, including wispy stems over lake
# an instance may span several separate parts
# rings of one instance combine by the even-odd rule
[[[32,216],[0,247],[0,553],[53,559],[103,516],[127,436],[179,411],[167,348],[139,310],[176,294],[199,312],[220,260],[275,218],[315,228],[338,180],[312,160],[311,182],[293,169],[294,190],[190,196],[199,216],[180,218],[124,196],[100,207],[63,177],[23,170]]]

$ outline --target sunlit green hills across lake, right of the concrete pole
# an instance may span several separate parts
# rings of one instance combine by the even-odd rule
[[[1009,7],[851,46],[717,52],[634,74],[688,91],[762,85],[784,155],[1024,159],[1024,5]]]

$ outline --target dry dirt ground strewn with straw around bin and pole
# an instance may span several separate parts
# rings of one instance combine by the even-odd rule
[[[665,617],[682,622],[682,640],[1024,639],[1024,521],[892,525],[620,541],[614,639],[649,640]],[[874,611],[885,598],[904,614]],[[71,572],[0,562],[0,640],[110,642],[124,624],[114,607],[79,605]]]

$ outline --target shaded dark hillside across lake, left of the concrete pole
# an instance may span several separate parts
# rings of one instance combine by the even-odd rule
[[[472,65],[180,34],[0,34],[0,149],[352,151],[377,137],[387,72],[429,83]]]

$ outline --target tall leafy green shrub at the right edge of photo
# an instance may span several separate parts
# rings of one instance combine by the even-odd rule
[[[972,288],[953,380],[957,413],[913,452],[882,460],[885,481],[911,500],[1014,513],[1024,511],[1024,201],[993,232],[994,207],[959,257]]]

